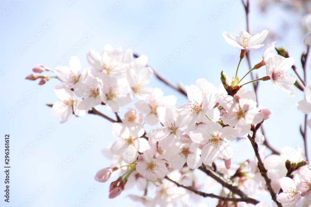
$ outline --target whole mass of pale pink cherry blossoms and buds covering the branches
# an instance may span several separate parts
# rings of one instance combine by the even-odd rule
[[[247,50],[262,47],[267,34],[268,31],[264,30],[251,36],[242,30],[233,37],[223,32],[227,43],[241,49],[240,61]],[[263,51],[262,62],[252,69],[266,67],[267,76],[256,81],[271,80],[275,88],[295,96],[290,85],[296,82],[296,77],[286,73],[295,60],[275,54],[274,48],[275,42],[268,44]],[[54,86],[60,100],[53,104],[51,111],[51,115],[61,116],[60,123],[67,122],[72,114],[84,116],[98,105],[104,105],[116,114],[118,119],[112,119],[114,123],[111,125],[115,141],[109,148],[114,155],[114,164],[95,175],[96,181],[106,182],[112,174],[119,174],[118,179],[110,184],[109,198],[119,196],[124,189],[136,184],[145,192],[144,195],[129,197],[133,200],[139,197],[145,206],[175,206],[177,200],[187,203],[195,191],[178,187],[171,181],[194,190],[204,189],[195,182],[194,169],[213,168],[217,171],[215,162],[219,160],[223,161],[218,162],[222,178],[231,179],[234,185],[248,190],[248,195],[267,191],[257,158],[231,168],[234,150],[230,142],[237,138],[251,139],[256,133],[255,143],[263,143],[264,136],[256,126],[272,116],[271,110],[258,106],[255,92],[244,89],[247,84],[244,77],[249,73],[239,78],[237,69],[235,77],[230,79],[222,72],[222,84],[218,87],[206,79],[198,79],[185,87],[188,101],[175,106],[176,96],[165,96],[160,88],[148,87],[153,70],[148,67],[147,59],[146,56],[134,58],[131,50],[123,51],[121,47],[114,49],[106,45],[102,53],[94,50],[87,53],[90,66],[83,70],[76,56],[71,57],[69,67],[58,66],[51,70],[37,65],[33,68],[35,73],[52,71],[56,75],[54,78],[61,81]],[[35,74],[26,77],[30,80],[39,78],[39,84],[44,84],[51,77]],[[311,86],[305,88],[305,94],[306,100],[298,103],[298,109],[308,114],[311,112]],[[121,108],[130,103],[131,107],[121,119]],[[267,175],[272,179],[272,188],[275,192],[283,191],[277,196],[278,202],[310,205],[311,172],[302,167],[306,163],[300,148],[294,150],[295,156],[287,161],[282,154],[265,158],[264,150],[264,147],[259,149]],[[277,162],[283,165],[276,170],[272,163]],[[295,171],[293,179],[285,177],[290,169]],[[220,183],[215,183],[217,185]],[[154,198],[147,194],[151,188],[156,189]],[[227,196],[228,192],[223,188],[220,196]],[[239,203],[239,206],[246,205]],[[259,203],[256,206],[267,205]]]

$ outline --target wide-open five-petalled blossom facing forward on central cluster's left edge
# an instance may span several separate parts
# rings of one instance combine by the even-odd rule
[[[115,155],[123,155],[123,161],[131,164],[138,156],[139,152],[144,152],[149,148],[145,138],[140,138],[145,130],[142,124],[132,124],[127,126],[123,123],[113,123],[111,126],[114,137],[119,138],[115,141],[110,151]]]

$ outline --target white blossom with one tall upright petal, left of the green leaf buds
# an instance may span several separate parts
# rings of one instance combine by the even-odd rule
[[[215,95],[209,93],[203,97],[203,93],[200,88],[195,85],[186,86],[188,103],[180,106],[176,106],[176,111],[181,115],[185,115],[179,129],[185,130],[188,127],[194,126],[196,123],[200,123],[204,118],[207,111],[215,105]]]

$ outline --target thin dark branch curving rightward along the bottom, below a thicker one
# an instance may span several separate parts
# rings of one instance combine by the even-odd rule
[[[169,180],[170,182],[173,182],[178,187],[182,187],[184,189],[187,189],[188,191],[194,192],[195,194],[197,194],[199,196],[202,196],[204,198],[210,197],[210,198],[217,198],[217,199],[223,200],[223,201],[246,202],[246,203],[251,203],[251,204],[258,204],[259,203],[259,201],[256,201],[256,200],[254,200],[252,198],[248,198],[248,197],[246,197],[246,198],[245,197],[244,198],[228,198],[228,197],[218,196],[218,195],[215,195],[213,193],[205,193],[205,192],[202,192],[202,191],[198,191],[198,190],[194,189],[191,186],[182,185],[182,184],[180,184],[180,183],[170,179],[167,176],[165,176],[165,179]]]

